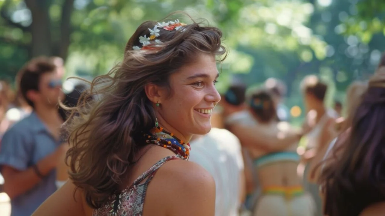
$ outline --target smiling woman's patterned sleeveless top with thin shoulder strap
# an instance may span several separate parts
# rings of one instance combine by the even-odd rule
[[[147,169],[131,186],[114,194],[110,201],[99,209],[95,209],[92,216],[141,216],[143,212],[144,198],[147,186],[154,177],[156,171],[167,161],[184,159],[180,155],[168,156],[158,161],[154,166]],[[144,179],[147,180],[141,183]]]

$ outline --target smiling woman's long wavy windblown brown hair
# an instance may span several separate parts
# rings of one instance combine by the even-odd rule
[[[147,21],[137,28],[127,42],[123,61],[107,75],[92,80],[90,89],[72,108],[77,115],[71,115],[66,123],[71,146],[66,159],[69,176],[92,208],[100,208],[119,191],[122,175],[135,163],[137,150],[146,145],[143,131],[155,125],[154,104],[146,96],[145,85],[166,87],[172,95],[172,73],[202,53],[222,56],[218,61],[226,56],[222,32],[194,20],[175,31],[158,28],[157,39],[163,43],[157,50],[133,50],[141,45],[139,36],[149,36],[149,29],[156,24]]]

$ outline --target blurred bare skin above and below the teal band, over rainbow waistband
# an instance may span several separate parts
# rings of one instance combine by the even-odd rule
[[[252,111],[250,112],[252,113]],[[258,121],[258,116],[254,116],[254,118]],[[271,152],[296,150],[300,135],[288,124],[284,126],[286,130],[279,127],[277,121],[271,120],[255,126],[235,124],[231,126],[231,131],[241,140],[244,147],[248,148],[251,157],[258,158]],[[260,185],[262,188],[301,185],[302,181],[296,174],[297,165],[296,162],[285,161],[259,168],[257,172]]]

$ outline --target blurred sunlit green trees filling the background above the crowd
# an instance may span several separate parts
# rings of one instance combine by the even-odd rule
[[[60,56],[66,76],[92,78],[122,59],[145,20],[175,10],[206,18],[224,32],[230,54],[218,90],[232,80],[249,86],[269,77],[288,86],[285,103],[303,117],[299,82],[319,74],[330,84],[327,104],[344,100],[384,50],[385,3],[378,0],[0,0],[0,78],[13,81],[33,56]],[[188,21],[185,21],[188,22]]]

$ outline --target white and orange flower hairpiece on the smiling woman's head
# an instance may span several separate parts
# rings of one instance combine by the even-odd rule
[[[176,20],[175,22],[162,22],[157,23],[154,28],[149,28],[150,36],[147,38],[147,35],[143,35],[139,37],[139,42],[142,43],[142,47],[134,46],[133,50],[156,50],[159,45],[162,44],[161,40],[156,39],[159,37],[160,30],[158,28],[163,28],[164,30],[174,31],[179,30],[180,28],[186,26],[186,24],[179,22]],[[155,40],[154,40],[155,39]]]

